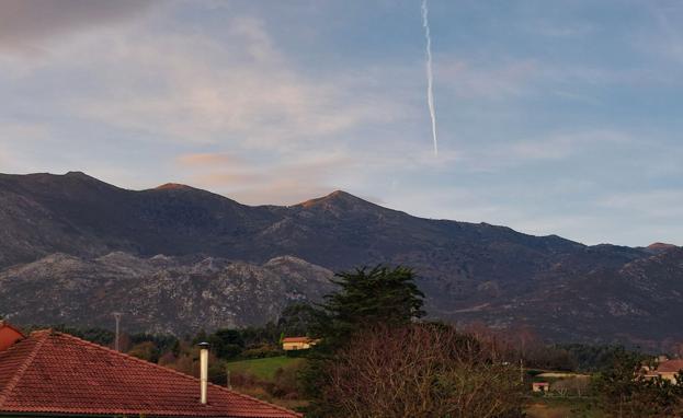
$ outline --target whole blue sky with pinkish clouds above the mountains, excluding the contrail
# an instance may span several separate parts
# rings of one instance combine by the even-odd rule
[[[0,0],[0,172],[683,245],[683,3]]]

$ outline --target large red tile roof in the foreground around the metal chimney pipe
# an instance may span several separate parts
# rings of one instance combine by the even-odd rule
[[[53,413],[184,417],[300,417],[288,409],[174,370],[41,330],[0,352],[0,414]]]

